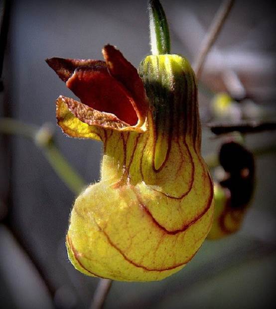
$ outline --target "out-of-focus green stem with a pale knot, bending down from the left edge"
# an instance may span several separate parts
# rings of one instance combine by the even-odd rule
[[[44,131],[44,132],[42,132]],[[70,163],[55,146],[47,128],[39,128],[11,118],[0,118],[0,132],[5,134],[22,135],[32,140],[42,149],[42,152],[56,174],[66,186],[76,195],[81,192],[86,183],[73,169]]]

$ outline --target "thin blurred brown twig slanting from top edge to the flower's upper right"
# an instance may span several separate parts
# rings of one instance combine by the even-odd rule
[[[206,60],[207,54],[210,51],[210,49],[212,48],[213,44],[215,43],[220,30],[222,29],[223,24],[225,23],[231,8],[234,4],[234,0],[225,0],[217,14],[215,15],[212,24],[201,44],[201,48],[200,51],[198,53],[198,56],[196,58],[195,64],[194,64],[194,71],[195,71],[195,75],[197,77],[197,79],[200,78],[202,69],[203,69],[203,65],[204,62]]]

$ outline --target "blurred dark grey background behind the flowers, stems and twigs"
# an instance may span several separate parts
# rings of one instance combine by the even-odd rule
[[[6,2],[10,14],[0,116],[39,127],[52,124],[56,145],[66,159],[87,184],[97,181],[102,145],[67,138],[55,126],[55,99],[61,94],[74,96],[44,59],[102,59],[101,49],[110,43],[137,67],[150,53],[147,1]],[[161,2],[170,26],[172,52],[185,55],[193,63],[221,1]],[[2,9],[4,1],[0,3]],[[228,92],[237,100],[227,120],[276,119],[275,24],[274,1],[235,1],[200,80],[204,155],[216,154],[223,141],[206,125],[216,120],[212,102],[218,92]],[[241,99],[243,104],[238,103]],[[276,133],[247,134],[245,140],[249,149],[266,148],[275,145]],[[256,157],[254,199],[238,233],[205,241],[183,270],[161,282],[114,282],[106,308],[272,307],[276,270],[275,159],[275,150]],[[74,198],[33,141],[0,132],[3,308],[91,306],[99,280],[73,268],[64,244]]]

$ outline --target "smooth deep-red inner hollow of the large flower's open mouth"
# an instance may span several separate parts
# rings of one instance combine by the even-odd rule
[[[138,116],[131,94],[106,68],[77,68],[66,85],[82,103],[99,111],[113,113],[130,125],[137,124]]]

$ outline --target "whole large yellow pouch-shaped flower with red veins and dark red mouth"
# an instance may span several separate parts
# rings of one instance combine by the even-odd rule
[[[104,144],[101,180],[71,213],[68,255],[90,276],[160,280],[192,259],[212,224],[197,83],[179,55],[146,57],[140,77],[115,47],[103,55],[47,60],[81,100],[57,99],[62,130]]]

